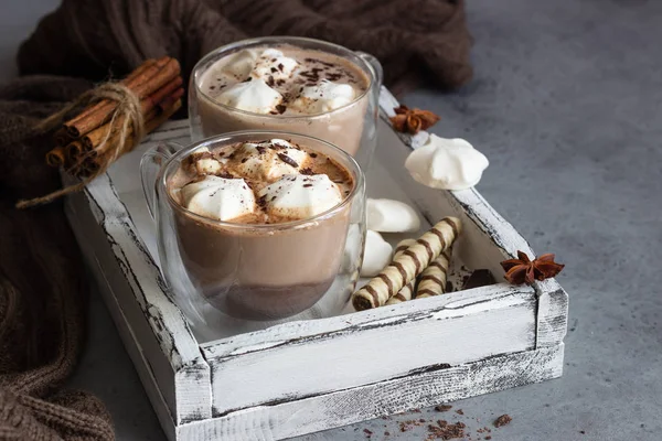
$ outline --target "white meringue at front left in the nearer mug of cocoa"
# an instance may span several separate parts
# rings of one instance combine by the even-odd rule
[[[189,211],[218,220],[231,220],[256,209],[253,190],[243,179],[207,175],[183,186],[180,197]]]

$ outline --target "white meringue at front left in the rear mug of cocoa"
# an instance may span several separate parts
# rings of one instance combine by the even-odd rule
[[[282,95],[267,86],[264,79],[254,78],[227,87],[218,94],[216,100],[239,110],[269,114],[282,103]]]

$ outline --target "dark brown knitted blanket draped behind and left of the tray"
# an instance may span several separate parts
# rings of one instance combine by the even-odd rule
[[[60,390],[85,335],[87,292],[62,205],[13,208],[58,186],[33,125],[88,80],[147,57],[174,56],[188,76],[213,49],[266,34],[370,52],[392,87],[471,77],[463,0],[64,0],[20,49],[20,72],[32,76],[0,87],[0,440],[114,438],[98,400]]]

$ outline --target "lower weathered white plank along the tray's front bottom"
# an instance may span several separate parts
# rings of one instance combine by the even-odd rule
[[[275,441],[538,383],[562,375],[563,349],[562,343],[296,401],[254,407],[183,424],[177,429],[177,439]]]

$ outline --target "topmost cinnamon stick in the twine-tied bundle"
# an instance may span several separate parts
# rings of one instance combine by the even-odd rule
[[[125,86],[142,99],[179,76],[180,72],[180,64],[177,60],[170,57],[159,58],[157,63],[145,68],[140,75],[127,82]],[[65,122],[70,136],[78,138],[106,122],[117,108],[117,103],[107,101],[107,104],[97,106],[96,110],[86,114],[85,117]]]

